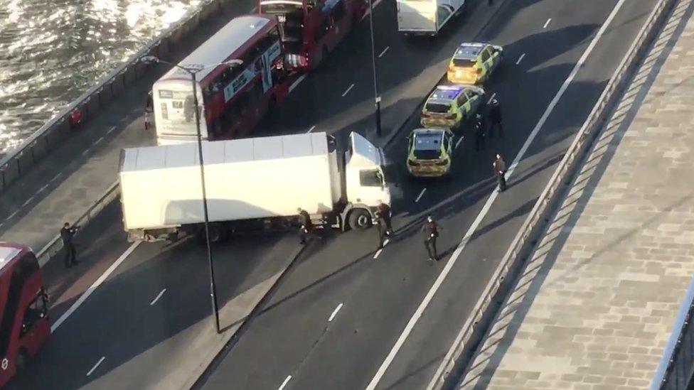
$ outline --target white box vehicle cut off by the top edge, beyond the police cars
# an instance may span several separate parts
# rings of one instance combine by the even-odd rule
[[[397,0],[397,31],[436,36],[463,9],[465,0]]]

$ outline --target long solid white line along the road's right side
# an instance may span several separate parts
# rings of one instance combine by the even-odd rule
[[[516,158],[513,160],[513,163],[511,164],[511,167],[508,169],[508,172],[506,173],[506,178],[511,178],[511,175],[513,175],[513,170],[516,169],[516,166],[518,166],[518,161],[521,161],[521,158],[523,158],[523,155],[525,155],[525,151],[528,151],[528,148],[530,147],[530,143],[533,142],[535,139],[535,136],[538,135],[538,132],[542,128],[542,126],[545,124],[545,121],[547,121],[547,118],[550,116],[550,113],[552,110],[554,110],[554,107],[557,105],[557,102],[559,102],[559,99],[561,99],[562,95],[566,91],[567,87],[571,83],[571,81],[576,77],[576,74],[578,73],[578,70],[583,66],[585,61],[587,60],[588,56],[592,52],[593,48],[595,45],[597,45],[598,40],[602,37],[604,34],[605,30],[607,30],[607,26],[609,26],[609,23],[612,22],[612,19],[614,19],[614,16],[616,16],[617,11],[621,9],[622,4],[624,4],[624,0],[619,0],[619,2],[616,4],[614,9],[612,9],[612,13],[607,16],[607,20],[603,23],[602,27],[600,30],[597,32],[597,34],[594,36],[592,42],[588,47],[586,48],[585,52],[579,58],[577,61],[576,65],[574,66],[573,70],[567,77],[567,79],[564,81],[562,86],[560,87],[559,91],[555,95],[554,99],[550,102],[548,105],[547,109],[545,109],[545,113],[543,114],[542,117],[540,117],[540,120],[538,121],[538,124],[535,125],[535,128],[533,131],[530,133],[528,136],[528,139],[525,140],[525,143],[523,143],[523,146],[521,147],[521,151],[518,151],[518,155],[516,155]],[[498,188],[498,185],[497,185]],[[427,295],[424,297],[422,300],[422,303],[420,303],[419,307],[417,307],[417,310],[415,310],[415,313],[412,314],[412,318],[410,318],[410,321],[407,322],[407,325],[405,325],[405,329],[402,330],[402,333],[400,334],[400,337],[397,338],[397,341],[395,341],[395,345],[393,345],[393,349],[390,350],[388,353],[388,356],[385,357],[385,360],[383,360],[383,364],[380,365],[378,368],[378,371],[376,374],[373,376],[371,381],[369,382],[368,386],[366,386],[365,390],[374,390],[376,385],[378,385],[378,382],[380,379],[383,377],[385,374],[385,370],[390,367],[390,364],[393,362],[393,359],[395,359],[395,355],[397,352],[400,351],[400,348],[402,345],[405,344],[405,340],[407,340],[407,337],[410,336],[410,332],[412,332],[412,329],[415,328],[415,324],[417,324],[417,321],[422,317],[422,313],[424,313],[424,310],[427,308],[429,305],[429,302],[434,298],[434,294],[439,290],[439,287],[442,285],[444,279],[446,276],[448,276],[448,273],[451,271],[453,268],[455,262],[459,258],[460,254],[462,253],[463,249],[465,248],[467,242],[469,239],[471,239],[472,234],[475,232],[477,227],[479,227],[479,224],[482,222],[482,219],[486,216],[486,214],[489,212],[489,209],[491,209],[491,205],[496,200],[496,196],[498,195],[498,192],[496,190],[492,191],[491,195],[489,195],[489,198],[487,199],[486,203],[484,204],[484,207],[482,207],[482,210],[479,212],[479,215],[475,218],[475,220],[472,222],[470,228],[467,230],[465,233],[465,236],[461,240],[460,244],[456,248],[456,250],[453,252],[451,255],[451,258],[449,259],[448,263],[444,267],[443,271],[439,273],[439,276],[437,277],[436,281],[434,281],[434,284],[432,285],[432,288],[429,289],[427,292]],[[436,378],[434,378],[434,381]],[[432,381],[429,384],[429,387],[427,389],[432,389],[432,384],[434,384],[434,381]]]

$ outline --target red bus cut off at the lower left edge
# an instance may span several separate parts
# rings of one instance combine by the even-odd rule
[[[0,386],[26,365],[50,335],[48,295],[31,249],[0,242]]]

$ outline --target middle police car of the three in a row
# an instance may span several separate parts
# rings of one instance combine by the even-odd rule
[[[484,100],[484,90],[474,85],[439,85],[422,107],[425,127],[455,129],[472,117]]]

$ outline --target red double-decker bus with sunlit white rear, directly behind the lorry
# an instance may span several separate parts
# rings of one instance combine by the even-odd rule
[[[230,60],[243,64],[220,65]],[[203,139],[210,141],[247,134],[289,93],[292,80],[274,16],[234,18],[178,65],[201,68],[198,109]],[[196,141],[191,76],[173,67],[152,92],[158,143]]]

